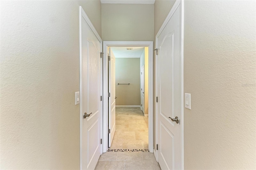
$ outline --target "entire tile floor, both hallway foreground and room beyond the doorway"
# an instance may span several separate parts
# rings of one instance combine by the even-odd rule
[[[148,149],[148,117],[139,107],[116,107],[116,133],[109,149]],[[95,170],[161,170],[149,152],[106,152]]]

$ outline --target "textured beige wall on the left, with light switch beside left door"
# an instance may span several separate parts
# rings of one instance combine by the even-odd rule
[[[1,169],[80,169],[79,5],[1,1]]]

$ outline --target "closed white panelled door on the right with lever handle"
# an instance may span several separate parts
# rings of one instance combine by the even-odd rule
[[[181,127],[174,118],[181,116],[180,5],[158,37],[157,48],[158,162],[163,170],[179,170]]]

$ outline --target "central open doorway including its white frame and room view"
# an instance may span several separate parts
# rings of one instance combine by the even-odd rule
[[[130,54],[131,50],[134,49],[140,53],[140,57],[120,55],[120,53],[125,52],[124,49],[130,51]],[[148,149],[149,152],[153,152],[153,42],[103,42],[103,52],[103,152],[108,150],[115,138],[119,138],[120,141],[127,141],[124,141],[124,146],[122,146],[123,143],[120,144],[120,141],[119,146],[115,143],[114,149],[129,149],[133,143],[138,144],[137,148],[133,149]],[[115,64],[111,61],[115,61]],[[113,65],[117,69],[115,74],[111,68]],[[144,75],[142,75],[142,68]],[[110,86],[114,82],[113,78],[109,80],[109,75],[115,75],[114,86],[116,90],[115,93],[112,91],[115,96],[109,94],[113,89]],[[145,80],[143,88],[142,77]],[[144,100],[142,94],[144,94]],[[110,110],[113,108],[109,105],[109,103],[114,103],[113,98],[116,99],[115,115],[112,114],[112,111],[109,112],[109,108],[111,108]],[[144,102],[143,112],[142,102]],[[114,120],[116,122],[113,122]],[[140,130],[139,128],[143,129]],[[136,130],[138,131],[135,132]],[[115,134],[111,134],[111,132]],[[136,135],[133,133],[136,133],[137,141]],[[130,136],[131,134],[132,136]],[[128,142],[129,139],[132,142]]]

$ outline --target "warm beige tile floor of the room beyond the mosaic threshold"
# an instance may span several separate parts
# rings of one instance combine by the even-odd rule
[[[148,116],[139,107],[116,107],[116,133],[110,149],[148,149]]]

